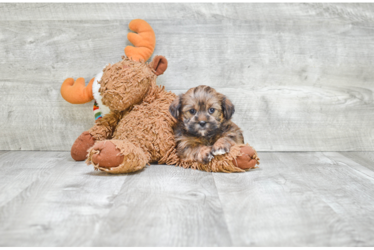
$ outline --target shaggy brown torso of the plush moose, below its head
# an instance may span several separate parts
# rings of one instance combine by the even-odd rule
[[[111,169],[108,169],[104,162],[100,166],[100,160],[95,161],[97,150],[94,148],[89,151],[87,162],[92,162],[98,169],[111,172],[137,170],[137,167],[142,168],[147,162],[177,163],[173,146],[175,145],[174,136],[172,126],[170,126],[175,121],[168,112],[168,107],[175,99],[175,94],[166,92],[153,80],[150,85],[141,103],[133,105],[130,110],[112,111],[110,114],[104,115],[101,119],[96,120],[96,124],[88,130],[95,140],[103,140],[99,143],[104,145],[111,142],[118,150],[124,150],[121,154],[125,156],[124,159],[119,159],[121,164]],[[105,140],[111,137],[110,131],[113,131],[112,139]],[[96,147],[99,146],[100,144],[96,145]],[[129,148],[134,151],[129,152]],[[131,155],[132,153],[134,155]],[[128,160],[132,161],[134,168],[124,165],[123,162]]]

